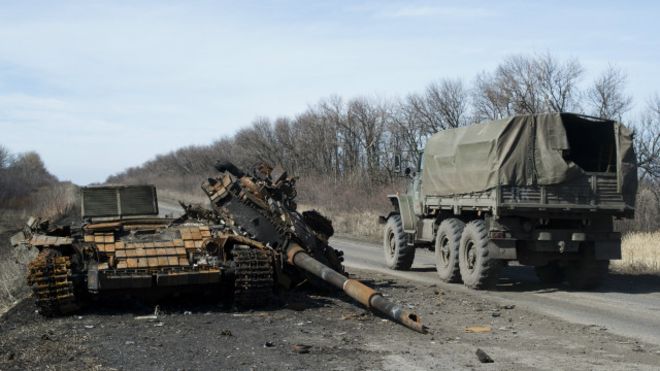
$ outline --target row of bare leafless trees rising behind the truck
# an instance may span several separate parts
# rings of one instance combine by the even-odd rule
[[[470,82],[441,79],[396,99],[333,96],[295,117],[258,118],[233,137],[157,156],[108,182],[148,181],[189,191],[198,187],[200,176],[212,172],[218,159],[241,166],[266,161],[369,197],[374,188],[396,180],[395,155],[403,155],[404,166],[412,166],[433,133],[515,114],[577,112],[635,128],[642,183],[657,189],[660,98],[649,98],[641,115],[633,118],[628,115],[633,100],[626,92],[624,71],[610,66],[593,81],[583,81],[584,76],[576,59],[514,55]]]

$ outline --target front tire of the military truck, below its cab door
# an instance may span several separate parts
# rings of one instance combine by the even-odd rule
[[[400,215],[395,214],[387,219],[383,234],[383,249],[385,264],[390,269],[408,270],[412,266],[415,259],[415,246],[408,246]]]

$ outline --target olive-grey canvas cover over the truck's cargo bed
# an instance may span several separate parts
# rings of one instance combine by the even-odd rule
[[[428,140],[423,161],[422,196],[552,185],[587,173],[616,174],[626,199],[637,188],[631,131],[576,114],[514,116],[445,130]]]

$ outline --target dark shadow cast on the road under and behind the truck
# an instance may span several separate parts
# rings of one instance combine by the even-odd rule
[[[511,292],[577,291],[571,289],[566,284],[543,284],[536,277],[534,268],[527,266],[509,266],[502,270],[496,290]],[[626,294],[648,294],[660,292],[660,275],[610,272],[609,276],[605,278],[601,286],[588,291]]]

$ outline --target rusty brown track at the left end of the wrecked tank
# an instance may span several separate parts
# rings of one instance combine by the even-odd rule
[[[28,267],[28,284],[32,287],[39,313],[52,317],[80,308],[71,274],[71,259],[56,251],[43,250]]]

